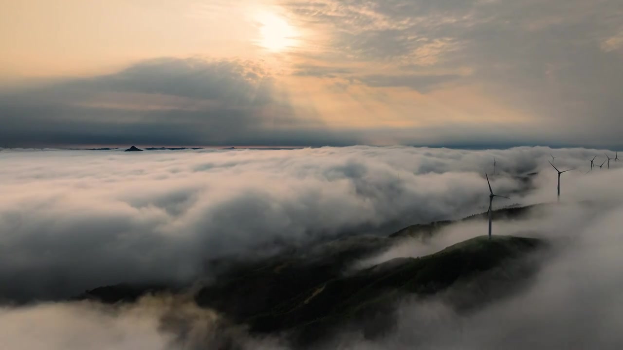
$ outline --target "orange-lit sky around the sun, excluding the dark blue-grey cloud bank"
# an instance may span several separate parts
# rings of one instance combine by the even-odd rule
[[[590,108],[563,92],[578,87],[561,70],[594,62],[575,62],[563,49],[540,54],[547,40],[558,39],[563,47],[566,38],[548,32],[554,27],[594,29],[587,18],[602,14],[609,22],[594,25],[599,31],[591,34],[591,49],[621,57],[623,22],[606,18],[605,5],[578,9],[560,2],[551,14],[510,1],[468,9],[399,0],[393,6],[344,0],[4,1],[0,84],[115,73],[158,57],[248,60],[273,79],[277,100],[292,106],[293,115],[318,118],[336,130],[483,122],[511,127],[546,120],[552,108],[560,115],[564,108]],[[403,16],[408,11],[413,15]],[[509,23],[525,37],[513,34],[518,29],[506,32]],[[478,26],[483,29],[470,32]],[[150,106],[171,103],[166,97],[153,101],[158,98],[150,97]],[[551,105],[543,102],[547,98]],[[107,95],[88,103],[125,102]]]

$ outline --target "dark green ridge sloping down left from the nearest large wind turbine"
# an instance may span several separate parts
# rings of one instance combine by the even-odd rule
[[[324,281],[272,310],[246,320],[252,330],[283,331],[320,326],[324,329],[358,318],[401,295],[429,296],[478,273],[498,268],[541,247],[520,237],[476,237],[421,258],[406,258],[368,268],[351,277]],[[383,265],[393,265],[383,268]],[[513,276],[508,276],[513,278]]]

